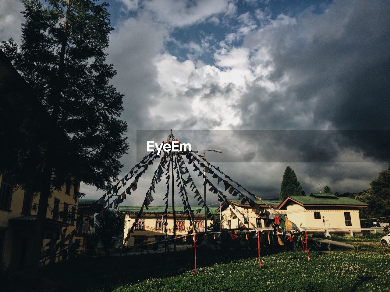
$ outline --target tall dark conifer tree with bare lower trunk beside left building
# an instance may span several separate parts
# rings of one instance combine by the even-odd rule
[[[23,5],[21,45],[10,39],[1,49],[28,84],[28,98],[39,100],[46,117],[44,124],[35,128],[39,135],[34,135],[34,129],[25,131],[25,141],[34,155],[23,151],[12,159],[0,157],[0,172],[40,193],[31,263],[34,279],[53,190],[60,190],[69,177],[74,186],[83,181],[98,189],[107,188],[120,173],[119,159],[128,150],[128,143],[124,137],[127,125],[119,119],[123,95],[110,85],[116,72],[106,63],[105,49],[113,30],[108,4],[24,0]],[[12,95],[20,84],[11,82],[2,88],[7,93],[3,96]],[[20,147],[12,141],[3,146],[9,148],[4,153]],[[28,171],[29,176],[23,175]]]

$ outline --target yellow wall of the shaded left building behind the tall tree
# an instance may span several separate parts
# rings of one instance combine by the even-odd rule
[[[2,176],[0,175],[0,183],[2,181]],[[77,191],[79,190],[80,186],[78,186]],[[74,187],[71,186],[70,195],[67,195],[65,193],[65,186],[62,188],[61,191],[54,191],[53,195],[49,198],[48,204],[51,208],[53,208],[54,205],[54,199],[60,199],[60,205],[58,208],[58,212],[64,211],[64,202],[69,204],[68,210],[71,211],[72,207],[76,208],[76,214],[77,214],[77,204],[78,199],[76,202],[73,199],[73,191]],[[9,220],[12,218],[17,218],[24,216],[22,212],[23,207],[23,199],[24,199],[24,193],[25,191],[21,189],[21,187],[18,187],[14,192],[12,193],[11,197],[11,208],[10,210],[2,210],[0,209],[0,227],[6,227],[7,231],[5,232],[5,238],[4,238],[4,247],[3,247],[3,262],[0,263],[5,267],[9,267],[11,264],[11,257],[12,257],[12,247],[14,244],[14,232],[12,230],[12,227],[9,225]],[[34,206],[34,203],[39,203],[39,194],[32,200],[32,206]],[[37,211],[31,210],[31,215],[37,215]],[[77,216],[77,215],[76,215]],[[53,218],[51,210],[47,210],[46,212],[47,218]],[[58,220],[61,220],[60,218]],[[68,226],[66,230],[66,235],[69,234],[72,230],[76,228],[76,223],[74,223],[73,226]],[[50,239],[44,239],[43,245],[46,245]],[[57,261],[59,258],[57,258]]]

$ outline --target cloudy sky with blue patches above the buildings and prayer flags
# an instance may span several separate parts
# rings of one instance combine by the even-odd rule
[[[193,150],[223,150],[207,158],[265,199],[278,197],[287,165],[308,194],[360,192],[387,169],[389,1],[108,3],[107,62],[129,130],[123,174],[147,154],[140,130],[160,130],[149,133],[160,142],[170,128]],[[0,0],[0,40],[20,40],[22,10]],[[151,176],[123,204],[140,205]]]

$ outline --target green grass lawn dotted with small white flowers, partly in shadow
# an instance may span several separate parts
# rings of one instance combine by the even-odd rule
[[[77,259],[45,270],[64,291],[390,291],[388,253],[279,252],[257,257],[245,250],[193,251]],[[229,254],[229,255],[227,255]]]

